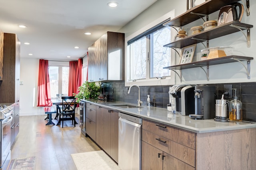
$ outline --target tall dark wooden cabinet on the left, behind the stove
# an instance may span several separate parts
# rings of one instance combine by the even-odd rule
[[[3,33],[2,82],[0,83],[0,103],[14,103],[14,127],[11,139],[13,142],[19,133],[20,126],[20,41],[16,34]],[[2,41],[2,40],[1,40]],[[0,53],[1,47],[0,47]],[[1,54],[0,54],[1,56]],[[0,59],[1,63],[1,59]],[[0,64],[1,67],[1,64]],[[1,68],[0,68],[1,70]],[[0,71],[1,72],[1,71]],[[14,134],[13,134],[14,133]]]

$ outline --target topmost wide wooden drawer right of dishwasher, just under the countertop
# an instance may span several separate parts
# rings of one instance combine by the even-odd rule
[[[195,133],[149,120],[142,120],[142,129],[195,149]]]

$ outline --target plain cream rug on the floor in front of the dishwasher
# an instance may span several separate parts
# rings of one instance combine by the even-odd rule
[[[120,170],[117,164],[102,151],[71,154],[77,170]]]

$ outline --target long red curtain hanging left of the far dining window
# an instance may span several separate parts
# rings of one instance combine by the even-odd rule
[[[39,60],[37,106],[52,106],[48,60]]]

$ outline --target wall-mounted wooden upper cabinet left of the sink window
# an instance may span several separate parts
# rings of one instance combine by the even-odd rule
[[[88,82],[124,80],[124,33],[107,32],[88,48]]]

